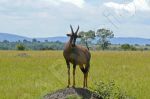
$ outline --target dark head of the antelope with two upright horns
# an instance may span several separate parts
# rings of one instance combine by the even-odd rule
[[[70,28],[71,28],[71,33],[67,34],[67,36],[70,37],[70,43],[71,43],[72,47],[75,47],[76,39],[81,37],[77,34],[78,30],[79,30],[79,25],[78,25],[76,32],[73,31],[73,28],[71,25],[70,25]]]

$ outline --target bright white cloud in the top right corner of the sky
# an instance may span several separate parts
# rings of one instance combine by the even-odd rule
[[[107,2],[104,3],[106,7],[114,8],[115,10],[126,10],[129,12],[138,11],[150,11],[150,6],[147,0],[133,0],[130,3],[116,3],[116,2]]]

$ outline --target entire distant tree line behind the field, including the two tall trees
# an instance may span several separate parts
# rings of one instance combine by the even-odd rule
[[[114,37],[114,34],[109,29],[97,29],[97,31],[81,31],[81,36],[78,39],[77,44],[87,47],[90,50],[123,50],[123,51],[136,51],[136,50],[150,50],[150,44],[146,45],[130,45],[130,44],[118,44],[112,45],[110,39]],[[40,42],[37,39],[32,41],[23,40],[17,42],[9,42],[7,40],[0,42],[0,50],[63,50],[65,43],[60,41]]]

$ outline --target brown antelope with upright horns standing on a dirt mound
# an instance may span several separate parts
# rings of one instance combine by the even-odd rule
[[[83,88],[87,87],[87,77],[90,69],[90,58],[91,54],[89,50],[83,46],[76,45],[76,39],[81,36],[78,35],[79,25],[77,30],[74,32],[70,25],[71,33],[67,34],[70,37],[69,41],[65,44],[63,55],[67,64],[68,69],[68,86],[70,86],[70,63],[73,64],[73,86],[75,87],[75,70],[76,66],[79,65],[81,71],[84,74]]]

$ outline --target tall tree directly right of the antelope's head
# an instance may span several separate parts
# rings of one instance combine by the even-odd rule
[[[81,31],[79,32],[79,35],[81,36],[81,43],[85,43],[86,47],[89,49],[88,43],[91,43],[91,41],[95,39],[95,32],[92,30],[89,30],[88,32]]]

